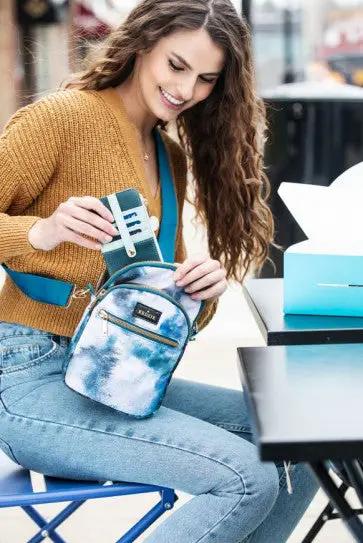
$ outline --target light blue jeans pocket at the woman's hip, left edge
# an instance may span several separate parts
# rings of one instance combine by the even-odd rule
[[[27,369],[43,362],[59,348],[49,335],[19,335],[0,340],[1,373]]]

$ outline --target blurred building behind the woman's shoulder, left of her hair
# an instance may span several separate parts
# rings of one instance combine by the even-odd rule
[[[0,0],[0,129],[12,113],[59,88],[88,43],[103,39],[136,0]]]

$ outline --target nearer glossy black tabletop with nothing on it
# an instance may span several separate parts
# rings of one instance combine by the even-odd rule
[[[363,458],[363,345],[238,349],[263,460]]]

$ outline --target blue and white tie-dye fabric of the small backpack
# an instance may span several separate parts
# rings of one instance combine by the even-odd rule
[[[192,300],[176,287],[173,271],[160,265],[133,267],[91,311],[86,310],[70,344],[65,368],[65,382],[69,387],[135,417],[144,418],[155,412],[201,309],[201,302]],[[141,286],[146,290],[140,289]],[[155,324],[135,316],[137,303],[159,311],[159,322]],[[99,315],[100,310],[146,332],[176,341],[178,346],[172,347],[105,322]]]

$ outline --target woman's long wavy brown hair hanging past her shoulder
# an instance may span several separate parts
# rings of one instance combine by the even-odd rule
[[[228,278],[242,281],[268,258],[274,225],[263,167],[265,109],[256,95],[249,29],[231,1],[142,0],[107,38],[102,54],[65,87],[116,87],[132,73],[138,51],[151,50],[174,31],[202,27],[224,50],[225,66],[208,98],[183,111],[176,126],[210,255]]]

